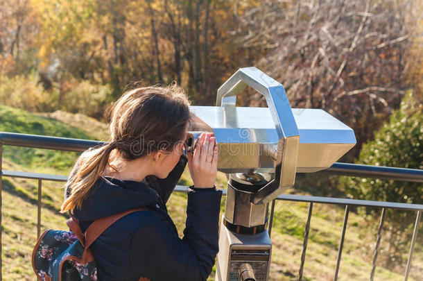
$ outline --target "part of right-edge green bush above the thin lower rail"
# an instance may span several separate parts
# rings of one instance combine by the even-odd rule
[[[413,94],[404,97],[399,110],[363,145],[359,164],[423,169],[423,114]],[[402,203],[423,203],[423,185],[366,178],[342,178],[350,198]]]

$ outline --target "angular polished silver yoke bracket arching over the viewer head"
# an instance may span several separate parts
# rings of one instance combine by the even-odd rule
[[[236,106],[236,95],[246,86],[264,95],[275,122],[279,142],[275,151],[275,179],[262,187],[252,203],[269,203],[295,182],[300,134],[284,86],[256,67],[241,68],[217,91],[217,106]]]

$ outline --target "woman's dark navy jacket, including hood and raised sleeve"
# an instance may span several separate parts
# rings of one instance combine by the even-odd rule
[[[222,192],[189,188],[182,239],[159,196],[167,201],[186,162],[181,157],[164,180],[149,177],[148,182],[135,182],[101,177],[80,210],[74,210],[85,232],[95,219],[148,208],[119,219],[92,244],[98,280],[207,280],[218,253]]]

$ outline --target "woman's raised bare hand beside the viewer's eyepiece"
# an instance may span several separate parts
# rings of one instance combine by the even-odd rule
[[[202,133],[195,149],[188,153],[188,168],[196,188],[214,187],[217,173],[216,138],[212,133]]]

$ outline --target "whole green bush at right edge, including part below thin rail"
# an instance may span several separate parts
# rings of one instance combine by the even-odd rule
[[[359,163],[376,166],[423,169],[423,106],[413,94],[404,97],[399,110],[392,112],[390,121],[384,124],[374,140],[363,145]],[[423,203],[421,182],[402,182],[367,178],[340,178],[340,187],[350,198],[402,203]],[[376,210],[365,212],[377,216]],[[385,229],[389,244],[387,266],[395,266],[404,258],[411,241],[415,212],[388,210]],[[376,225],[376,224],[375,224]]]

